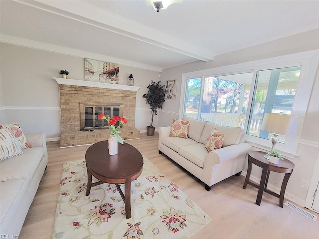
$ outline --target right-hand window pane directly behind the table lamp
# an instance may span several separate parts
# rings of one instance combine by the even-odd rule
[[[247,133],[271,139],[272,133],[260,130],[264,113],[291,115],[301,66],[257,71],[255,91]],[[276,133],[276,132],[274,132]],[[279,136],[285,142],[285,135]]]

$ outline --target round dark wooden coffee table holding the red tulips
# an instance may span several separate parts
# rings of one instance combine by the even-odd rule
[[[91,187],[102,183],[115,184],[125,203],[126,218],[131,218],[131,182],[140,176],[143,168],[143,157],[132,145],[118,145],[118,154],[109,155],[108,141],[93,144],[85,153],[88,184],[86,196]],[[92,183],[92,175],[100,182]],[[124,183],[124,194],[118,184]]]

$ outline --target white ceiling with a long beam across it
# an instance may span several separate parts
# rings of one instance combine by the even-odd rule
[[[183,0],[159,13],[144,0],[1,0],[0,8],[1,42],[158,71],[319,28],[318,0]]]

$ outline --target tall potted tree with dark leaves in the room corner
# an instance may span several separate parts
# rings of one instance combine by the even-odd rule
[[[143,95],[143,98],[146,100],[146,104],[150,105],[151,108],[151,124],[150,126],[146,127],[146,135],[153,136],[155,127],[152,126],[153,124],[153,117],[154,114],[157,115],[157,109],[163,108],[163,103],[165,101],[165,90],[164,86],[160,85],[160,81],[155,82],[152,81],[151,84],[149,84],[148,93]]]

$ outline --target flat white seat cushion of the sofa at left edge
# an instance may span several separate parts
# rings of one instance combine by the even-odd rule
[[[32,179],[29,176],[34,175],[44,156],[44,148],[26,148],[22,151],[23,154],[1,162],[1,182],[16,178],[27,178],[28,181]]]

